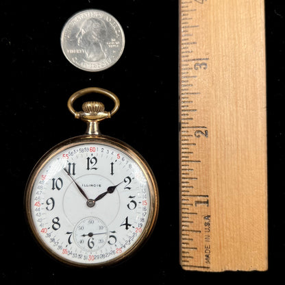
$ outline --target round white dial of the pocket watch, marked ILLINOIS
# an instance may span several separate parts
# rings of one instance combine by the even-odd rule
[[[32,228],[47,251],[68,263],[118,260],[144,233],[149,188],[145,171],[123,149],[73,145],[36,173],[29,193]]]

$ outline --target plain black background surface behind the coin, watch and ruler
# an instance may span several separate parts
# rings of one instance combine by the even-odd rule
[[[230,1],[230,0],[229,0]],[[188,284],[262,281],[284,267],[284,7],[266,3],[269,147],[269,271],[186,272],[179,266],[178,1],[1,1],[0,282],[18,284]],[[60,48],[66,20],[79,10],[109,12],[126,38],[119,62],[88,73]],[[119,112],[101,124],[149,162],[160,188],[160,214],[148,243],[132,259],[108,269],[73,269],[34,242],[23,214],[25,183],[45,151],[82,134],[66,101],[89,86],[111,90]],[[152,281],[151,281],[152,280]]]

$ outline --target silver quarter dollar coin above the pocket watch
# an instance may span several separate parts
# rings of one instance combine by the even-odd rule
[[[116,18],[101,10],[83,10],[65,23],[60,38],[67,60],[84,71],[103,71],[123,53],[125,35]]]

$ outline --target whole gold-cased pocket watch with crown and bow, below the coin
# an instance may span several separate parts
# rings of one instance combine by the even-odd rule
[[[114,101],[74,101],[101,93]],[[102,88],[85,88],[69,98],[86,134],[64,140],[37,162],[25,189],[27,223],[51,256],[79,267],[104,267],[127,259],[141,246],[158,216],[158,186],[147,162],[121,140],[99,132],[99,122],[119,109],[119,99]]]

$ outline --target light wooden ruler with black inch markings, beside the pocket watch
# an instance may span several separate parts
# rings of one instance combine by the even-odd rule
[[[263,0],[179,0],[180,264],[267,270]]]

